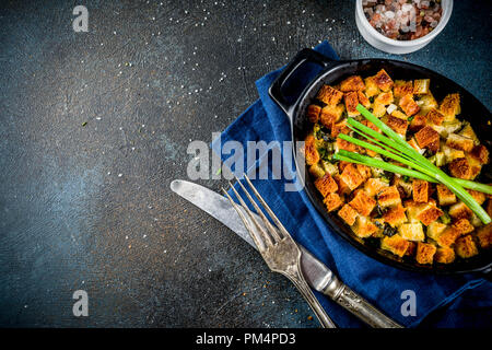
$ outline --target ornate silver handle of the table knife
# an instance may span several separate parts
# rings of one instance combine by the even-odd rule
[[[371,327],[403,328],[371,305],[365,299],[352,291],[335,276],[323,292]]]

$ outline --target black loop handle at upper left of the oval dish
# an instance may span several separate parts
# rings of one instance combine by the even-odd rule
[[[271,84],[268,94],[270,97],[280,106],[280,108],[285,112],[289,118],[292,120],[294,107],[297,105],[303,94],[295,97],[293,102],[289,102],[286,96],[282,93],[282,88],[288,82],[289,78],[292,77],[301,67],[305,63],[317,63],[324,68],[335,66],[337,61],[329,59],[328,57],[311,49],[305,48],[301,50],[294,59],[282,70],[280,75]]]

